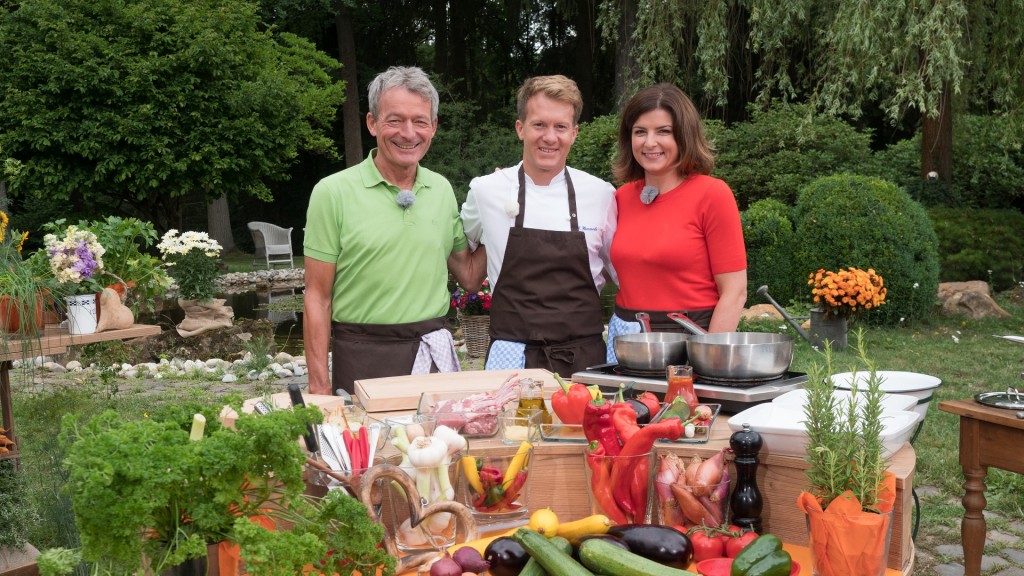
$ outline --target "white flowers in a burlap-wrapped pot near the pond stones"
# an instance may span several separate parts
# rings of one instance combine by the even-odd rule
[[[167,264],[167,274],[178,285],[178,305],[185,318],[177,326],[178,334],[195,336],[216,328],[228,328],[234,311],[224,299],[213,297],[213,286],[220,273],[220,243],[205,232],[179,234],[169,230],[157,245]]]

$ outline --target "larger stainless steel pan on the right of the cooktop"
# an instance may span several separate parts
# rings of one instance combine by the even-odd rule
[[[708,333],[685,315],[669,318],[692,332],[686,353],[695,375],[725,380],[781,376],[793,362],[794,337],[766,332]]]

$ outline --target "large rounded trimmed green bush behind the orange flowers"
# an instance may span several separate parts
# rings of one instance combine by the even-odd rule
[[[818,269],[874,269],[887,303],[872,324],[924,319],[939,284],[938,239],[921,204],[887,180],[838,174],[804,187],[797,200],[795,269],[805,281]],[[809,291],[808,291],[809,294]]]

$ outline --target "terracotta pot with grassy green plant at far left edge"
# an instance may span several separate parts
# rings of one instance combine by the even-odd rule
[[[0,334],[33,336],[43,328],[43,307],[53,281],[45,268],[23,257],[29,233],[8,230],[8,223],[0,210]]]

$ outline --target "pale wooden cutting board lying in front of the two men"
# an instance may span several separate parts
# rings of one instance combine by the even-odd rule
[[[423,393],[495,390],[509,376],[518,373],[520,378],[544,380],[546,395],[558,385],[547,370],[469,370],[442,374],[391,376],[355,380],[355,396],[367,412],[394,412],[416,410]]]

